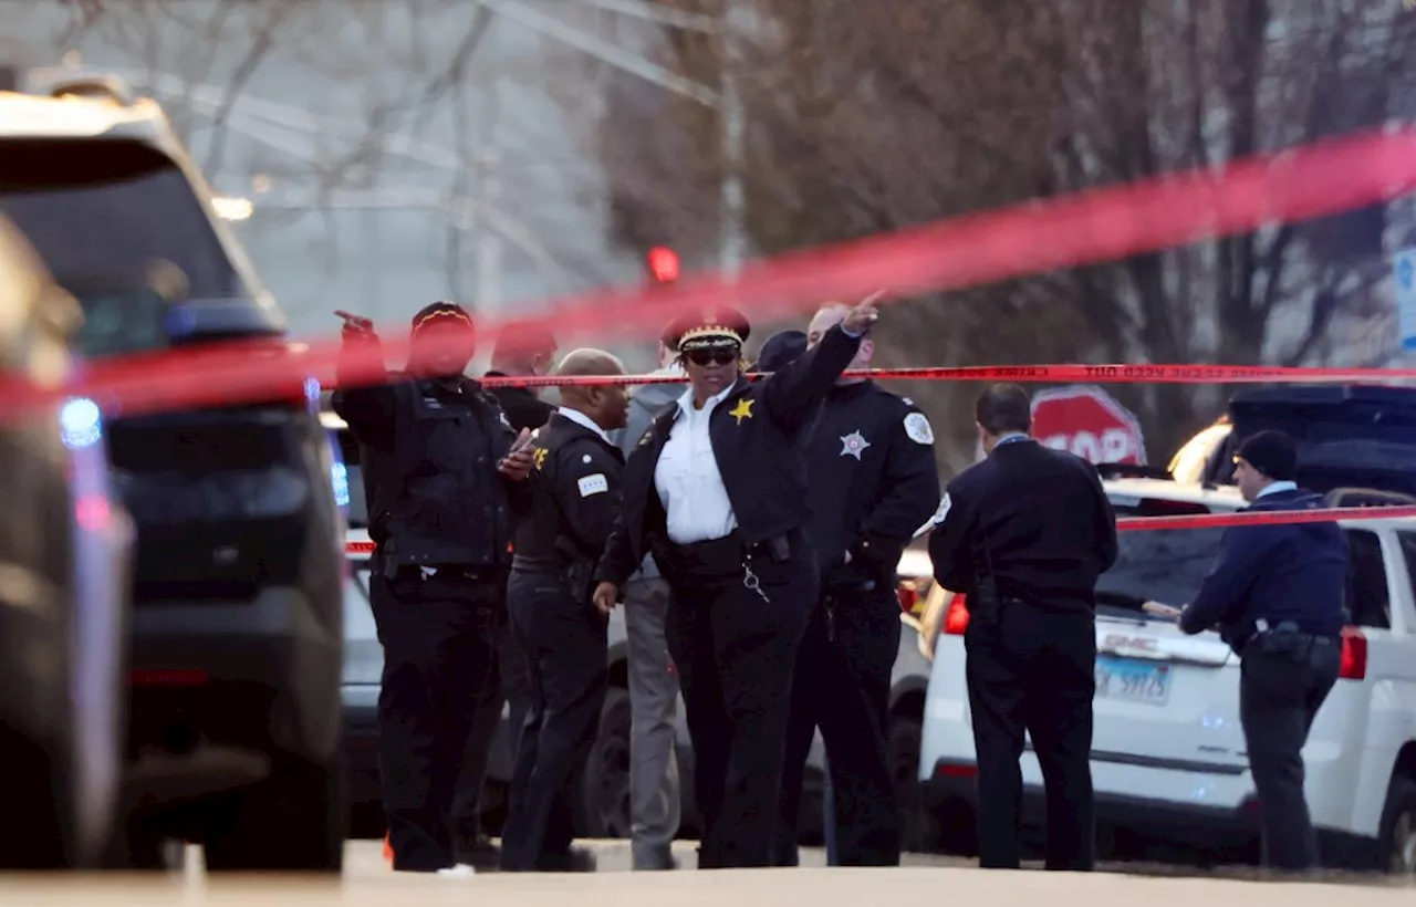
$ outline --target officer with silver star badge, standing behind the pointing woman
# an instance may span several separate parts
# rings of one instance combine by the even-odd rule
[[[821,342],[847,306],[824,306],[807,327]],[[850,369],[869,368],[861,340]],[[821,601],[797,654],[782,781],[777,860],[796,863],[801,774],[820,727],[835,811],[837,862],[899,865],[901,828],[886,764],[891,671],[899,652],[905,546],[939,505],[935,434],[912,402],[861,378],[841,378],[807,441],[811,521]]]

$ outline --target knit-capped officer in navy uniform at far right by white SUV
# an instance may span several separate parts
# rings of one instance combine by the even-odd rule
[[[1250,511],[1321,509],[1298,488],[1298,456],[1281,432],[1259,432],[1235,454]],[[1318,865],[1303,794],[1303,746],[1342,661],[1348,546],[1334,522],[1231,526],[1199,594],[1178,616],[1188,634],[1214,625],[1242,657],[1239,722],[1259,794],[1263,862],[1287,872]]]

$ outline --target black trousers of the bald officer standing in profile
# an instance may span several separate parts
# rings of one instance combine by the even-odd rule
[[[501,833],[510,872],[569,867],[573,795],[595,746],[607,685],[609,623],[558,574],[511,572],[511,634],[521,648],[531,712],[511,777]]]

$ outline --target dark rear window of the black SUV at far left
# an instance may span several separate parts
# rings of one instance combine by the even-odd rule
[[[188,299],[249,296],[187,177],[170,157],[139,141],[0,140],[0,214],[64,284],[132,277],[166,263],[185,276]],[[115,306],[140,304],[115,301],[112,293],[76,294],[91,317],[106,324],[120,321]],[[150,340],[161,342],[153,321],[143,324]],[[103,337],[91,333],[85,341]],[[112,340],[126,352],[136,338],[119,331]]]

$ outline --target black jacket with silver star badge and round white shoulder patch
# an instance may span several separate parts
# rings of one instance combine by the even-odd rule
[[[827,583],[892,584],[901,553],[939,507],[929,419],[875,382],[838,385],[806,458],[807,529]]]

